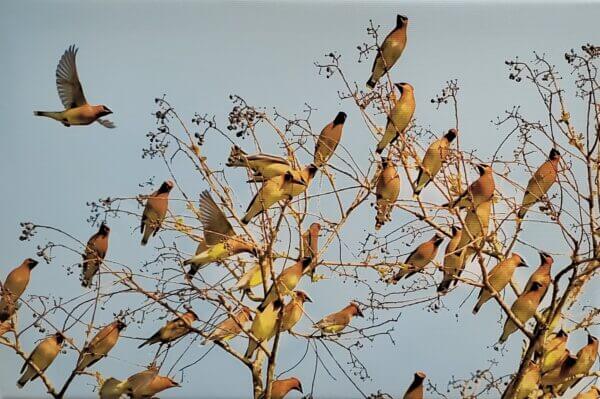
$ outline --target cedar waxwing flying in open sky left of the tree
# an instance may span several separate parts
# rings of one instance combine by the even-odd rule
[[[70,46],[60,58],[56,67],[56,87],[65,110],[58,112],[34,111],[33,114],[52,118],[67,127],[98,122],[102,126],[112,129],[115,127],[114,123],[108,119],[100,119],[103,116],[112,114],[112,111],[105,105],[88,104],[83,95],[83,88],[79,81],[75,63],[77,51],[78,49],[74,45]]]

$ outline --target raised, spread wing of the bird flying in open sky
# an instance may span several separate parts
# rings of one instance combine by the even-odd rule
[[[87,104],[83,95],[81,82],[79,82],[79,76],[77,75],[77,65],[75,64],[77,50],[74,45],[70,46],[63,56],[60,57],[60,61],[56,67],[58,96],[67,109]]]

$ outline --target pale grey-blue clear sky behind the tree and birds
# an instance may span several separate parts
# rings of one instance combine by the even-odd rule
[[[23,258],[32,256],[35,245],[41,242],[19,242],[19,222],[61,226],[84,241],[96,229],[86,222],[89,216],[86,201],[108,195],[136,195],[141,192],[138,183],[148,177],[155,176],[157,181],[166,178],[162,164],[140,157],[147,142],[145,135],[154,126],[153,99],[163,93],[186,120],[194,112],[200,112],[215,114],[224,123],[230,109],[227,97],[232,93],[240,94],[252,104],[276,105],[287,114],[300,113],[308,102],[318,109],[312,119],[317,129],[337,111],[345,109],[349,118],[343,143],[350,148],[356,146],[357,154],[361,149],[373,147],[375,143],[358,112],[348,103],[340,103],[336,93],[341,88],[339,81],[318,76],[313,62],[337,50],[342,54],[347,76],[364,84],[371,60],[356,63],[356,46],[368,40],[365,29],[369,19],[381,24],[382,32],[387,33],[397,13],[408,15],[411,22],[409,44],[392,74],[398,81],[410,82],[415,87],[418,122],[436,132],[452,126],[449,110],[436,111],[429,100],[446,80],[458,79],[461,145],[476,148],[483,159],[491,156],[506,133],[490,123],[505,109],[521,104],[529,115],[543,118],[532,89],[507,79],[504,61],[514,56],[529,59],[533,50],[543,52],[568,81],[564,52],[587,42],[600,42],[597,2],[569,5],[443,5],[400,1],[369,5],[3,2],[0,5],[3,71],[0,87],[4,90],[0,97],[3,131],[0,277],[4,279]],[[88,100],[108,105],[114,111],[111,119],[117,129],[107,130],[98,124],[65,128],[32,116],[33,110],[60,109],[54,72],[58,59],[70,44],[80,48],[77,64]],[[577,114],[574,105],[571,111]],[[208,141],[209,161],[215,165],[224,162],[229,148]],[[205,188],[200,182],[196,184],[200,184],[197,192]],[[240,192],[240,208],[244,207],[249,194],[243,186],[235,188]],[[407,191],[403,193],[408,195]],[[348,225],[348,241],[360,240],[371,229],[373,211],[366,208]],[[394,222],[400,222],[406,221],[407,216],[397,212],[395,218]],[[394,222],[386,228],[392,229]],[[151,248],[139,246],[139,232],[134,231],[137,225],[133,219],[111,221],[109,257],[133,265],[151,258]],[[562,244],[543,230],[532,227],[528,234],[538,235],[538,245],[561,251]],[[191,249],[190,244],[188,250]],[[400,250],[406,252],[405,247]],[[529,263],[537,265],[534,250],[524,248],[521,252]],[[82,292],[77,275],[67,275],[63,266],[76,261],[76,256],[69,255],[59,256],[50,265],[40,264],[34,271],[29,292],[67,297]],[[523,282],[527,273],[519,271],[518,279]],[[355,290],[352,285],[334,286],[331,281],[310,287],[311,296],[319,300],[308,305],[308,312],[318,319],[349,299],[359,297],[360,292]],[[486,367],[487,360],[492,358],[501,363],[499,374],[514,371],[521,337],[517,338],[518,334],[511,337],[510,350],[499,356],[492,348],[501,328],[499,311],[489,306],[473,317],[470,312],[473,297],[459,308],[469,293],[467,288],[454,291],[444,301],[448,309],[436,314],[420,307],[404,311],[395,326],[394,346],[387,339],[366,343],[358,354],[372,379],[361,382],[361,390],[372,393],[382,389],[400,396],[414,371],[420,369],[438,386],[445,386],[452,376],[467,376]],[[598,306],[597,295],[590,291],[584,300]],[[110,320],[112,316],[107,311],[102,317]],[[364,323],[359,321],[359,325],[361,322]],[[127,334],[143,336],[154,331],[159,323],[146,323],[143,330],[132,326]],[[306,322],[302,326],[308,328]],[[37,333],[25,336],[25,348],[32,348],[37,338]],[[582,342],[582,337],[574,337],[570,341],[571,350],[576,351]],[[302,341],[284,337],[279,371],[291,366],[304,347]],[[121,341],[112,357],[100,362],[98,369],[118,378],[138,371],[151,354],[133,348],[133,341]],[[207,348],[194,345],[192,350],[198,351],[197,356]],[[340,360],[342,364],[346,361],[343,357]],[[72,357],[61,356],[51,367],[49,376],[57,385],[62,385],[73,361]],[[39,381],[24,391],[16,389],[20,367],[21,361],[16,356],[0,349],[0,396],[42,395]],[[335,366],[332,370],[336,381],[322,370],[318,374],[316,397],[360,397]],[[312,371],[311,361],[293,374],[309,387]],[[251,386],[247,371],[218,348],[187,373],[183,382],[183,388],[161,397],[244,398],[249,397]],[[68,396],[89,395],[92,383],[88,377],[80,377]]]

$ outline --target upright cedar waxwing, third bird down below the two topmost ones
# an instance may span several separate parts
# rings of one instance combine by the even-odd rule
[[[396,166],[389,159],[382,158],[381,173],[379,173],[375,188],[377,197],[375,203],[375,209],[377,210],[375,230],[379,230],[385,222],[392,220],[392,209],[398,199],[398,194],[400,194],[400,176],[398,176]]]

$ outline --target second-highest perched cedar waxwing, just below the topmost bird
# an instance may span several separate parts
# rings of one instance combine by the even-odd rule
[[[390,111],[385,126],[385,133],[377,144],[376,152],[381,154],[388,144],[398,139],[400,134],[408,127],[415,113],[415,93],[413,87],[408,83],[396,83],[400,90],[400,98],[396,101],[394,108]]]

